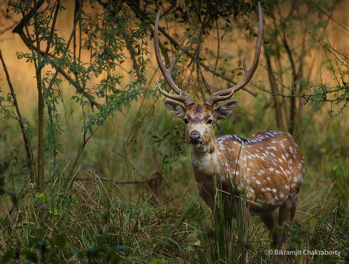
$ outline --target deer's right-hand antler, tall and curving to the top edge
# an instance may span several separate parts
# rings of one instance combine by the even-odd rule
[[[246,55],[244,56],[243,66],[245,71],[245,77],[238,83],[237,85],[223,91],[218,91],[210,96],[208,99],[208,104],[214,105],[216,102],[228,100],[232,97],[233,93],[239,91],[243,87],[248,84],[248,82],[252,79],[254,72],[257,70],[257,66],[259,63],[259,57],[261,53],[262,47],[262,37],[263,37],[263,16],[262,16],[262,8],[260,3],[258,2],[258,35],[257,35],[257,43],[256,49],[254,52],[254,59],[250,70],[247,69],[246,66]]]

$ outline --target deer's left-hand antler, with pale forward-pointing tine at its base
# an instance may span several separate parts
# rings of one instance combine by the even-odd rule
[[[163,64],[162,59],[161,59],[161,53],[160,53],[160,48],[159,48],[159,33],[158,33],[159,32],[158,27],[159,27],[160,11],[161,11],[161,9],[159,9],[159,12],[157,12],[157,16],[156,16],[156,20],[155,20],[155,27],[154,27],[155,56],[156,56],[157,64],[159,65],[159,68],[162,72],[162,75],[164,76],[166,82],[171,87],[173,92],[175,92],[176,94],[170,94],[170,93],[165,92],[164,90],[161,89],[161,87],[157,81],[156,81],[156,83],[158,85],[160,92],[163,95],[165,95],[165,97],[168,97],[168,98],[176,100],[176,101],[180,101],[180,102],[184,103],[185,105],[188,105],[188,104],[192,103],[192,99],[191,99],[190,95],[188,93],[182,91],[181,89],[179,89],[172,79],[172,70],[173,70],[174,64],[176,64],[175,57],[173,56],[173,61],[172,61],[169,69],[166,69],[166,67]]]

